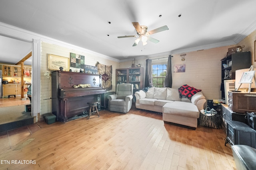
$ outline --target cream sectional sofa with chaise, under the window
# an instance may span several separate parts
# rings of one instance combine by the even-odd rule
[[[200,110],[204,109],[206,98],[197,92],[189,100],[180,99],[178,89],[149,88],[147,92],[135,92],[135,106],[138,109],[161,112],[164,122],[177,123],[195,129]]]

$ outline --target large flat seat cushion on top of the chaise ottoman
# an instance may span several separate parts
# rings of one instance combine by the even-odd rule
[[[188,102],[175,101],[166,103],[163,106],[163,113],[179,115],[184,117],[199,118],[199,111],[196,105]]]

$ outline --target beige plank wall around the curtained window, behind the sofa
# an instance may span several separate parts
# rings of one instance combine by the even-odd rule
[[[256,68],[254,62],[254,41],[256,40],[256,30],[249,36],[244,38],[237,45],[245,45],[243,51],[251,51],[252,65]],[[186,64],[186,72],[172,72],[172,88],[179,88],[183,84],[188,84],[197,89],[201,89],[207,99],[220,99],[220,83],[221,83],[221,59],[226,57],[228,48],[236,45],[212,48],[202,51],[192,51],[186,53],[186,60],[181,61],[180,54],[172,54],[172,69],[176,64]],[[150,59],[157,59],[168,56],[159,56]],[[142,66],[146,66],[146,59],[136,59]],[[166,60],[166,59],[160,59]],[[152,63],[158,60],[152,60]],[[128,68],[132,65],[132,61],[120,63],[120,68]],[[145,70],[145,69],[144,69]]]

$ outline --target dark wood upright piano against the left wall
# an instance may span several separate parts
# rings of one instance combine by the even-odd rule
[[[101,83],[98,74],[53,71],[52,113],[56,115],[57,121],[67,122],[70,117],[88,112],[87,102],[99,101],[100,94],[106,93]],[[78,84],[90,84],[91,87],[74,88]]]

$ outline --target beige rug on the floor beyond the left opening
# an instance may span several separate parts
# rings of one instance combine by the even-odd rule
[[[0,124],[31,118],[31,112],[25,111],[25,105],[0,108]]]

